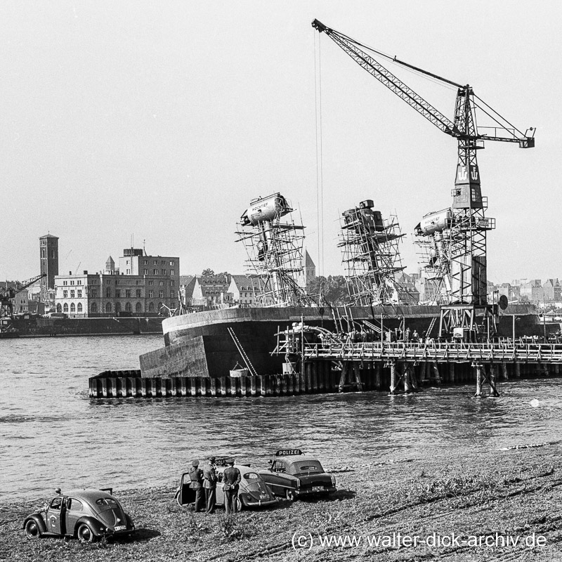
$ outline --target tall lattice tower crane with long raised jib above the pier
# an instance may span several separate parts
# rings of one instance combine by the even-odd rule
[[[485,217],[488,207],[486,197],[482,197],[480,171],[476,151],[484,148],[484,141],[517,143],[520,148],[535,146],[535,129],[525,133],[511,125],[498,112],[481,98],[471,86],[462,86],[390,57],[360,44],[343,33],[332,30],[318,20],[312,26],[325,33],[358,65],[384,84],[389,90],[404,100],[414,110],[423,115],[438,129],[458,139],[458,161],[455,175],[455,188],[452,190],[450,218],[443,225],[447,235],[447,304],[441,308],[441,331],[452,332],[455,327],[473,329],[478,312],[484,317],[492,314],[492,305],[487,299],[486,275],[486,232],[495,228],[495,221]],[[368,51],[398,63],[404,67],[431,77],[450,86],[457,87],[455,115],[447,119],[419,94],[391,74],[375,60]],[[476,110],[483,112],[493,126],[477,126]]]

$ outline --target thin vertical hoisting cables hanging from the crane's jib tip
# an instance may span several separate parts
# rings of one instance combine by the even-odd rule
[[[314,34],[314,101],[316,129],[316,221],[318,226],[318,277],[324,275],[324,185],[322,170],[322,66],[320,35]],[[318,61],[318,65],[317,65]],[[320,289],[322,292],[322,289]]]

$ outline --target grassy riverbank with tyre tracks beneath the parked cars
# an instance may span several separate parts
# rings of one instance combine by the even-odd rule
[[[222,509],[206,516],[178,507],[174,478],[163,488],[115,490],[137,527],[130,539],[115,542],[27,540],[20,529],[23,518],[46,498],[17,505],[0,499],[0,559],[558,560],[561,444],[540,445],[478,454],[446,449],[431,458],[383,464],[365,459],[365,464],[348,467],[330,467],[327,461],[327,468],[336,471],[339,489],[330,499],[282,501],[272,509],[242,511],[232,518]],[[322,547],[319,537],[348,537],[359,544]],[[509,546],[504,546],[506,540]]]

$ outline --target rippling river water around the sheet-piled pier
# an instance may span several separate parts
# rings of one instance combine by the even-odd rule
[[[138,368],[162,336],[0,340],[0,501],[55,488],[176,485],[193,458],[233,455],[265,467],[278,448],[330,466],[462,454],[558,440],[562,379],[285,398],[91,400],[88,379]]]

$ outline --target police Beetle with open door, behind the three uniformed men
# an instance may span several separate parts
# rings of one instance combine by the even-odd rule
[[[273,495],[268,485],[262,480],[258,472],[250,468],[249,464],[235,464],[234,466],[240,471],[238,511],[249,507],[266,507],[277,502],[275,495]],[[216,483],[217,505],[224,505],[224,492],[221,481],[225,469],[225,459],[217,459],[215,462],[216,476],[218,477],[218,482]],[[179,505],[195,503],[195,490],[191,489],[190,484],[189,473],[184,472],[181,475],[179,488],[176,490],[176,501]]]

